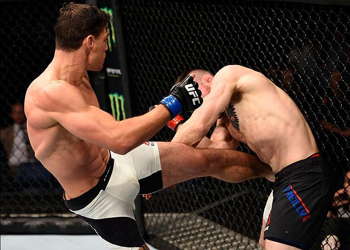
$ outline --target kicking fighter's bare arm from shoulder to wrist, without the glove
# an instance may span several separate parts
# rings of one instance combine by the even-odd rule
[[[37,105],[76,137],[119,154],[147,141],[170,119],[168,109],[158,105],[144,115],[115,121],[107,112],[89,105],[78,88],[64,82],[46,87]]]

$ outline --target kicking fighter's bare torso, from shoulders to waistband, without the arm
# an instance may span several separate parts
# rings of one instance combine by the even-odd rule
[[[25,113],[30,143],[36,158],[62,184],[66,198],[75,198],[91,189],[102,175],[109,160],[107,149],[85,142],[72,135],[60,123],[49,118],[38,101],[45,101],[43,89],[50,84],[69,85],[56,79],[50,68],[46,69],[29,86],[25,98]],[[83,78],[79,88],[89,105],[98,107],[97,98]]]

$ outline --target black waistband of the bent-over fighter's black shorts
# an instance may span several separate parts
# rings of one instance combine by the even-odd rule
[[[311,162],[314,160],[320,160],[323,159],[320,153],[315,153],[310,155],[309,157],[300,160],[300,161],[296,161],[294,163],[291,163],[290,165],[284,167],[281,171],[279,171],[278,173],[275,174],[276,177],[276,181],[285,177],[288,177],[291,174],[297,173],[301,170],[309,170],[312,169],[314,167],[316,167],[316,165],[314,164],[305,164],[307,162]]]

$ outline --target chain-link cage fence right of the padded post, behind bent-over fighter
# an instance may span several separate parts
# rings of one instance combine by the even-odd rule
[[[251,68],[296,102],[337,175],[338,189],[344,188],[350,152],[344,130],[350,110],[348,7],[256,1],[122,1],[121,6],[134,115],[145,113],[182,71]],[[164,128],[153,140],[172,136]],[[252,153],[245,145],[240,150]],[[164,241],[157,241],[160,249],[259,248],[270,191],[265,179],[190,180],[144,203],[146,229],[156,237],[151,242]],[[345,249],[348,215],[338,203],[315,248],[337,228]]]

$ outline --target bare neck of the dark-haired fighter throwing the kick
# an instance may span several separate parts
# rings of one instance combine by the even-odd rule
[[[86,55],[78,49],[74,52],[55,50],[50,68],[57,80],[66,81],[74,86],[79,86],[86,74]]]

